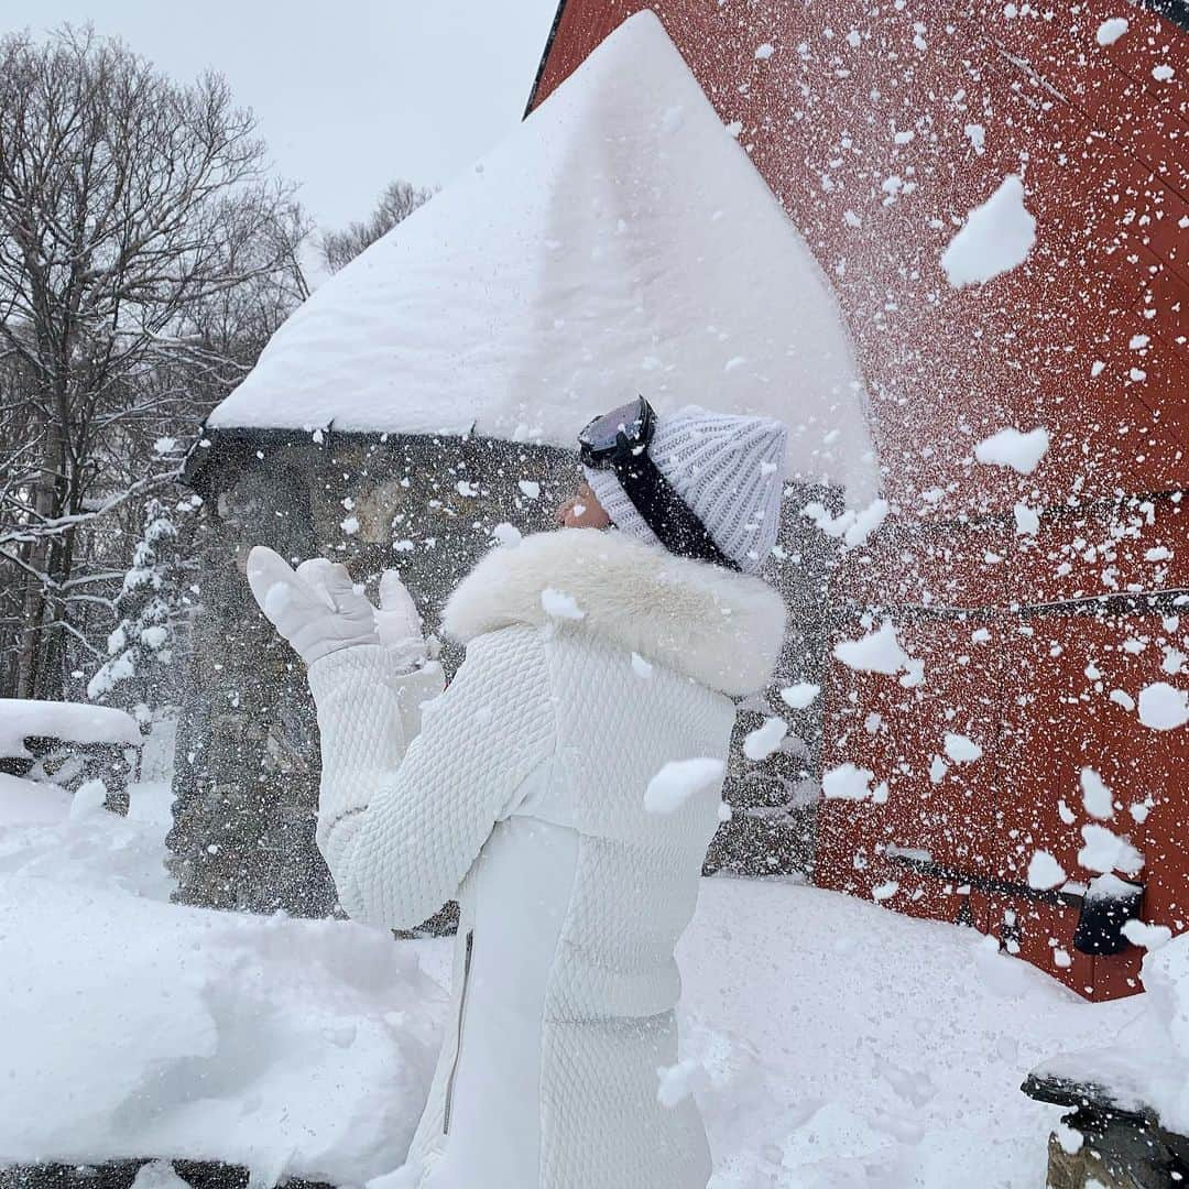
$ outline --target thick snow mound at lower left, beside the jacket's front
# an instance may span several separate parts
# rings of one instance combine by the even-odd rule
[[[130,833],[115,822],[86,831]],[[168,1152],[246,1165],[260,1184],[358,1185],[396,1168],[446,1008],[416,951],[350,921],[75,882],[82,829],[42,864],[52,877],[13,874],[20,853],[0,877],[5,946],[20,956],[0,963],[5,1160]]]

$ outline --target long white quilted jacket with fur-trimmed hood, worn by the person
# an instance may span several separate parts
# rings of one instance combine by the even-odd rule
[[[379,647],[310,668],[344,907],[411,927],[461,905],[410,1183],[705,1185],[697,1108],[662,1105],[658,1072],[678,1059],[673,949],[721,789],[671,813],[643,794],[671,760],[725,757],[731,698],[767,682],[784,616],[756,578],[568,529],[458,587],[445,628],[467,652],[445,693],[436,666],[394,673]]]

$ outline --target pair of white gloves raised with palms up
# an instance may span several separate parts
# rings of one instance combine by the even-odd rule
[[[390,577],[391,575],[391,577]],[[402,667],[426,656],[421,617],[400,578],[389,572],[380,584],[380,611],[356,589],[342,565],[314,558],[296,571],[264,546],[247,556],[247,581],[272,625],[307,666],[358,644],[388,644]]]

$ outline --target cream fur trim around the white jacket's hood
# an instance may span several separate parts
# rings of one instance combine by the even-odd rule
[[[553,589],[581,618],[542,605]],[[767,583],[678,558],[622,533],[561,529],[496,548],[463,579],[442,628],[466,643],[512,624],[593,633],[731,697],[763,688],[785,634],[785,604]]]

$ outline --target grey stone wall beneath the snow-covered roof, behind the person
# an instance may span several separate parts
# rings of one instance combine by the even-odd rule
[[[314,847],[314,707],[301,662],[247,589],[251,546],[290,559],[338,559],[372,586],[395,565],[433,628],[458,579],[490,548],[492,529],[553,527],[577,478],[565,452],[484,439],[319,434],[213,443],[199,484],[207,501],[202,612],[191,636],[169,835],[178,899],[310,917],[334,910]],[[820,492],[804,492],[813,497]],[[818,680],[825,642],[826,551],[792,509],[786,518],[787,559],[774,561],[772,575],[792,611],[780,684]],[[459,659],[445,649],[447,673]],[[810,870],[819,710],[793,713],[779,698],[743,709],[728,789],[734,816],[711,847],[707,870]],[[769,711],[789,718],[806,748],[751,765],[740,754],[742,734]]]

